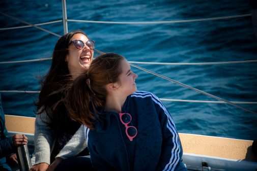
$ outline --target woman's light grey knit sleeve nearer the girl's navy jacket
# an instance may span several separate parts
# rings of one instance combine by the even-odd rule
[[[68,159],[75,157],[81,151],[87,147],[87,143],[84,137],[84,126],[81,125],[79,129],[72,136],[70,141],[64,146],[64,148],[59,152],[56,157],[61,157],[63,159]],[[56,158],[55,157],[55,158]]]

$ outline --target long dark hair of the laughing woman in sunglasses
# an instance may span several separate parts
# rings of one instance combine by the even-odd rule
[[[50,118],[48,125],[52,129],[66,126],[70,123],[67,110],[63,102],[60,102],[65,96],[65,86],[71,84],[71,75],[68,64],[65,61],[69,52],[71,38],[81,33],[88,36],[81,30],[75,30],[62,36],[55,44],[52,54],[52,64],[49,72],[41,79],[41,91],[39,99],[35,103],[36,114],[46,113]]]

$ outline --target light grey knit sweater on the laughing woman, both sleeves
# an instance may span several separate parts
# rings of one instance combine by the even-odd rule
[[[50,155],[55,144],[56,134],[45,123],[47,121],[49,121],[49,117],[45,113],[42,113],[41,115],[36,115],[34,135],[36,157],[35,164],[50,164]],[[71,140],[64,146],[64,148],[56,157],[61,157],[63,159],[72,158],[78,155],[86,147],[87,144],[84,138],[84,127],[83,125],[81,125],[80,128],[72,136]]]

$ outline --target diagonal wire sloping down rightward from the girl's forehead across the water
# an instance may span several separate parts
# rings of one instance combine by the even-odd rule
[[[237,107],[237,108],[243,109],[243,110],[245,110],[245,111],[248,111],[248,112],[250,112],[250,113],[253,113],[253,114],[256,114],[256,115],[257,115],[256,112],[251,111],[251,110],[249,110],[249,109],[246,109],[246,108],[244,108],[244,107],[238,106],[238,105],[234,104],[234,103],[231,102],[231,101],[227,101],[227,100],[225,100],[225,99],[223,99],[223,98],[220,98],[220,97],[217,97],[217,96],[215,96],[215,95],[209,94],[209,93],[207,93],[207,92],[205,92],[205,91],[202,91],[202,90],[199,90],[199,89],[190,87],[190,86],[188,86],[188,85],[186,85],[186,84],[180,83],[180,82],[175,81],[175,80],[173,80],[173,79],[167,78],[167,77],[162,76],[162,75],[157,74],[157,73],[154,73],[154,72],[152,72],[152,71],[150,71],[150,70],[144,69],[144,68],[142,68],[142,67],[140,67],[140,66],[137,66],[137,65],[135,65],[135,64],[130,63],[130,65],[131,65],[131,66],[134,66],[134,67],[136,67],[137,69],[140,69],[140,70],[142,70],[142,71],[148,72],[148,73],[150,73],[150,74],[153,74],[153,75],[158,76],[158,77],[160,77],[160,78],[163,78],[163,79],[165,79],[165,80],[174,82],[174,83],[176,83],[176,84],[178,84],[178,85],[181,85],[181,86],[183,86],[183,87],[189,88],[189,89],[194,90],[194,91],[196,91],[196,92],[205,94],[205,95],[210,96],[210,97],[212,97],[212,98],[215,98],[215,99],[217,99],[217,100],[219,100],[219,101],[224,101],[224,102],[226,102],[227,104],[230,104],[230,105],[232,105],[232,106],[235,106],[235,107]]]

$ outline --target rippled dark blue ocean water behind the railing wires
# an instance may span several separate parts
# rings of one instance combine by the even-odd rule
[[[245,0],[193,1],[74,1],[67,0],[68,19],[94,21],[173,21],[250,14]],[[2,12],[32,24],[62,20],[61,1],[0,2]],[[0,28],[25,24],[0,15]],[[41,26],[63,35],[62,22]],[[96,41],[98,50],[124,55],[128,61],[225,62],[257,57],[251,17],[166,24],[102,24],[68,22]],[[50,57],[58,37],[33,27],[0,30],[0,61]],[[98,55],[98,54],[95,54]],[[1,90],[40,90],[39,77],[50,60],[0,64]],[[230,101],[257,101],[257,63],[219,65],[138,64],[148,70]],[[215,100],[144,71],[138,90],[159,98]],[[8,115],[35,117],[35,93],[2,92]],[[163,101],[181,133],[227,138],[257,138],[257,115],[227,104]],[[240,106],[257,112],[257,105]]]

